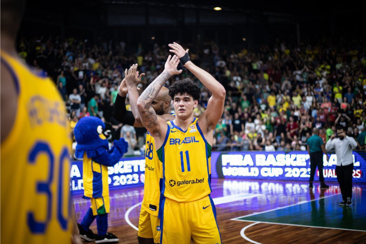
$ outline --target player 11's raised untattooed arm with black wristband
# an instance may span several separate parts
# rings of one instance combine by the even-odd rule
[[[208,100],[207,109],[199,118],[200,127],[203,130],[203,133],[207,134],[215,128],[217,122],[223,115],[226,96],[225,88],[209,73],[189,60],[189,56],[186,54],[188,53],[188,49],[185,51],[183,47],[176,42],[169,44],[169,47],[171,48],[170,52],[176,54],[178,58],[183,58],[185,61],[188,60],[183,63],[184,67],[192,72],[192,74],[195,75],[212,93],[211,98]]]

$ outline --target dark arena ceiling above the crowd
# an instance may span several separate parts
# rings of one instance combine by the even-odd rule
[[[56,6],[56,7],[55,7]],[[215,11],[214,7],[220,7]],[[22,31],[127,42],[169,40],[246,45],[323,36],[364,38],[363,8],[299,1],[54,0],[28,1]],[[32,26],[41,26],[33,29]]]

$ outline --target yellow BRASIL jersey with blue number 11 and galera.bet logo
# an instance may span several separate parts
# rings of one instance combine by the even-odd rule
[[[168,122],[161,148],[164,197],[177,202],[192,202],[211,193],[211,145],[205,140],[197,120],[186,131]]]

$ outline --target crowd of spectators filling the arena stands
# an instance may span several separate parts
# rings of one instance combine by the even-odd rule
[[[293,46],[275,41],[258,50],[226,50],[211,41],[183,47],[227,91],[213,150],[305,151],[312,128],[318,128],[326,142],[338,126],[356,139],[358,150],[366,150],[365,42],[326,40]],[[127,155],[143,152],[146,130],[117,122],[113,105],[124,70],[138,63],[146,74],[140,84],[145,88],[162,72],[167,45],[140,44],[131,50],[122,41],[90,45],[73,38],[41,37],[21,38],[17,48],[24,61],[57,83],[72,129],[82,117],[98,116],[112,131],[111,139],[121,136],[130,143]],[[183,78],[197,81],[202,89],[194,110],[199,116],[210,93],[187,71],[174,79]]]

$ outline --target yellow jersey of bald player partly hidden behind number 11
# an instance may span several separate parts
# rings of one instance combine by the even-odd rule
[[[160,171],[162,163],[156,153],[155,140],[150,132],[146,134],[145,184],[142,207],[149,213],[158,216],[160,201]]]

